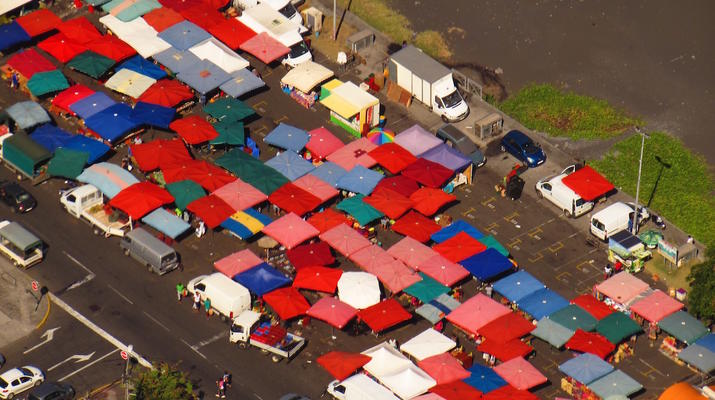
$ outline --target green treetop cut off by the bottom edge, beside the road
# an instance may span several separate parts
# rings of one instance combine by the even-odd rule
[[[144,369],[132,379],[137,400],[194,400],[193,385],[183,372],[161,363]]]

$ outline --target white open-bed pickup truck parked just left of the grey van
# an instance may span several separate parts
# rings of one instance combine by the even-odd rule
[[[93,185],[82,185],[62,193],[60,203],[70,215],[94,227],[95,235],[119,236],[129,230],[129,219],[104,211],[104,195]]]

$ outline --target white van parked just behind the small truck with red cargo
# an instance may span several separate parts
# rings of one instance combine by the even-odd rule
[[[189,281],[186,288],[189,296],[198,291],[201,301],[210,299],[211,308],[221,315],[222,320],[233,319],[251,308],[251,293],[248,289],[220,272],[197,276]]]

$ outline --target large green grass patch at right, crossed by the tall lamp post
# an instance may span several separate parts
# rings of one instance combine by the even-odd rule
[[[633,135],[591,164],[620,190],[635,196],[640,148],[640,135]],[[656,156],[670,168],[661,167]],[[714,189],[715,177],[705,159],[685,148],[680,140],[663,132],[653,132],[646,139],[640,203],[707,246],[715,245]]]

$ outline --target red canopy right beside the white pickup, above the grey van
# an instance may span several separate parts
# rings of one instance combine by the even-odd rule
[[[174,197],[166,189],[145,181],[122,189],[109,201],[109,205],[124,211],[133,219],[139,219],[173,201]]]

